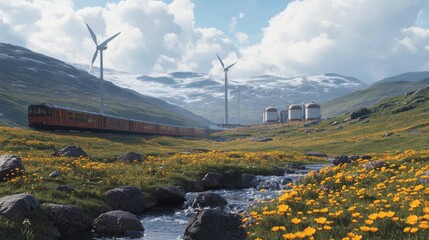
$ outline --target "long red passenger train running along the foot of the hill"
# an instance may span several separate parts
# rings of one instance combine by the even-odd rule
[[[30,105],[28,107],[28,125],[30,128],[46,130],[142,133],[171,136],[197,136],[207,133],[205,128],[145,122],[50,104]]]

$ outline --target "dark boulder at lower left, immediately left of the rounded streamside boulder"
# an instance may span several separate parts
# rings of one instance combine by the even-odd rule
[[[63,235],[83,231],[90,225],[89,217],[76,206],[43,203],[41,207],[48,209],[48,218]]]

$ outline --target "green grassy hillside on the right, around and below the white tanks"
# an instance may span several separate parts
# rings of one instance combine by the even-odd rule
[[[415,104],[414,109],[392,114],[396,109],[413,105],[416,99],[425,99]],[[362,154],[406,149],[427,149],[429,142],[429,91],[413,95],[386,99],[375,105],[375,112],[362,121],[351,124],[343,122],[347,115],[304,127],[301,124],[255,126],[219,133],[232,142],[216,143],[214,147],[226,150],[282,150],[282,151],[322,151],[327,154]],[[407,104],[404,104],[407,102]],[[391,105],[391,106],[387,106]],[[384,107],[383,106],[387,106]],[[332,125],[338,121],[340,124]],[[342,129],[337,129],[338,127]],[[305,133],[305,131],[314,131]],[[317,132],[320,131],[320,132]],[[392,132],[392,136],[383,137]],[[260,143],[249,138],[273,137],[273,141]],[[244,138],[244,139],[243,139]]]

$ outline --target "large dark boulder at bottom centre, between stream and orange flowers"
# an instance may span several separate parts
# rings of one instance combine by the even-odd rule
[[[244,240],[245,230],[241,217],[216,209],[204,209],[192,217],[186,227],[183,240]]]

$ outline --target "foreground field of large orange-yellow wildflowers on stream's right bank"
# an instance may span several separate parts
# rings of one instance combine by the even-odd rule
[[[325,167],[252,207],[249,239],[427,239],[429,151],[378,154]],[[372,162],[374,163],[374,162]]]

